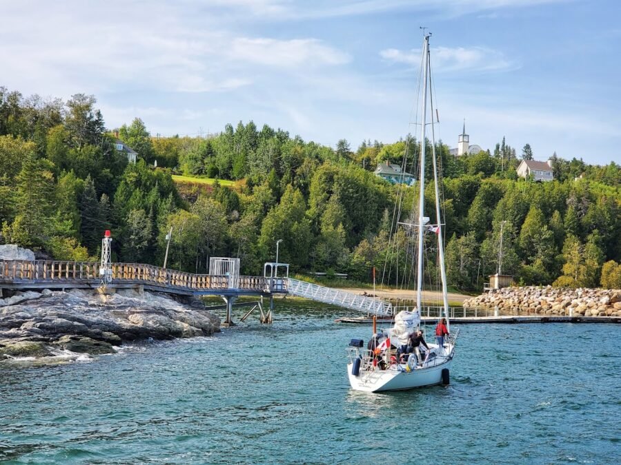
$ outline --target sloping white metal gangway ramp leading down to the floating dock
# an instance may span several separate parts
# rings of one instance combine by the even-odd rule
[[[353,292],[319,286],[311,282],[288,278],[288,293],[293,296],[317,300],[326,304],[338,305],[346,309],[364,311],[372,315],[391,316],[393,304],[373,297],[358,296]]]

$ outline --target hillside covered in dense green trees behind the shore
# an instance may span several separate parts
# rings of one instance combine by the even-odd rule
[[[161,265],[172,227],[168,265],[187,271],[206,271],[210,256],[233,256],[244,273],[262,273],[277,239],[280,261],[297,271],[368,280],[371,267],[384,268],[397,187],[373,169],[401,163],[409,147],[406,168],[414,171],[413,141],[363,141],[354,152],[345,140],[333,149],[252,121],[206,138],[152,137],[139,118],[106,128],[96,105],[83,94],[50,101],[0,87],[0,242],[86,260],[111,229],[116,260]],[[137,163],[117,151],[114,129]],[[491,153],[454,158],[442,143],[437,152],[456,287],[480,289],[495,273],[501,225],[502,271],[518,282],[621,287],[618,165],[550,154],[555,181],[535,183],[517,178],[518,154],[504,138]],[[521,152],[533,156],[530,146]],[[173,172],[239,181],[181,196]],[[430,183],[430,209],[432,194]],[[407,189],[409,199],[416,195]],[[431,270],[427,281],[436,279]]]

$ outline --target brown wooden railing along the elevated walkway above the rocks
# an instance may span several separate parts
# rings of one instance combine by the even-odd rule
[[[0,260],[0,282],[70,282],[95,284],[101,280],[99,262],[62,262],[48,260]],[[193,291],[231,289],[228,276],[186,273],[145,265],[112,263],[112,285],[115,283],[154,285],[168,289]],[[240,276],[239,287],[245,291],[270,291],[269,278]],[[282,283],[277,291],[286,291]]]

